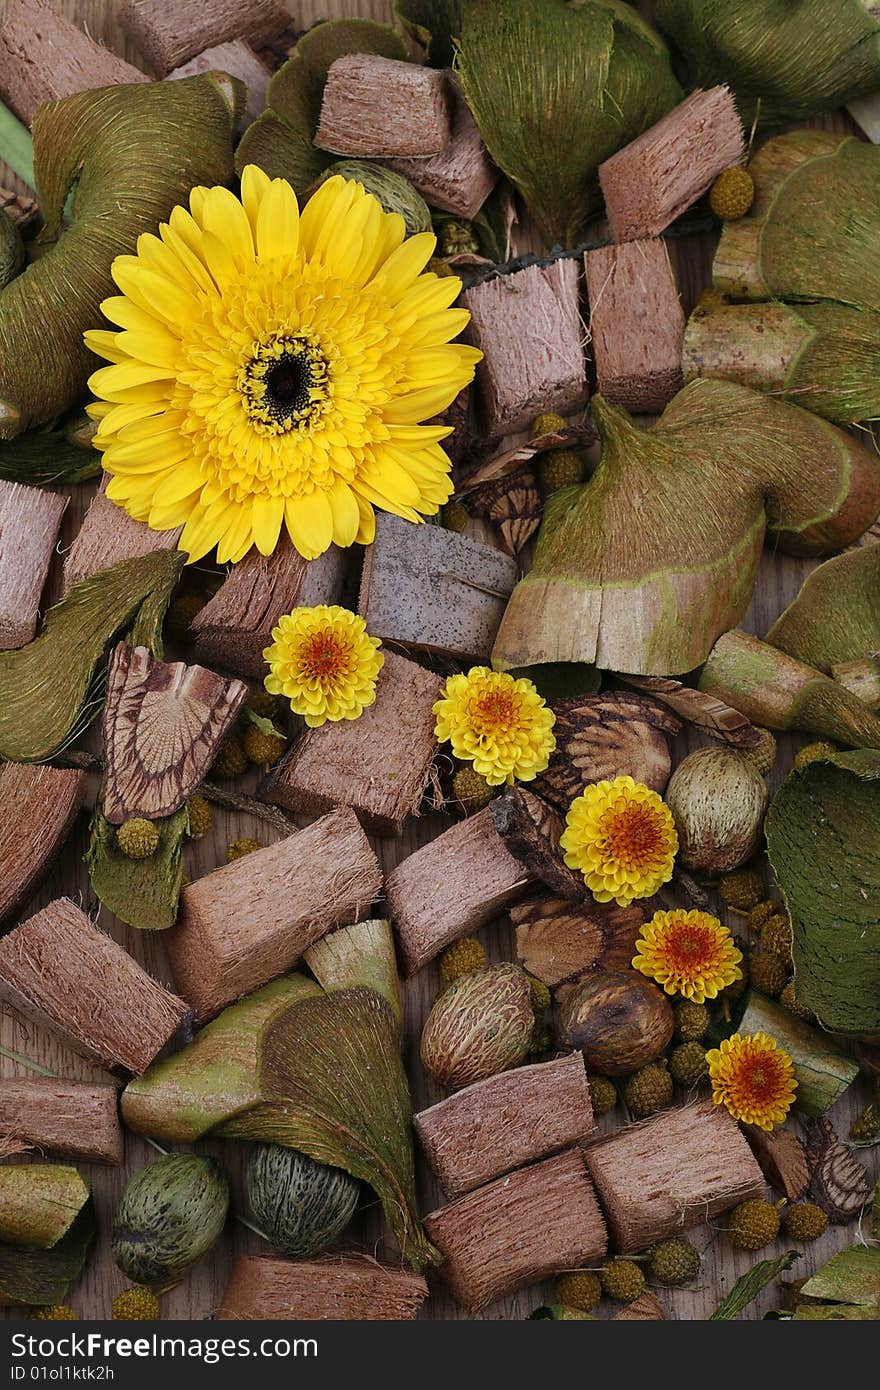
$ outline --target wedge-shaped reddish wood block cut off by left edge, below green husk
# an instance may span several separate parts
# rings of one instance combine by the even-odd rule
[[[29,763],[0,766],[0,922],[36,891],[76,819],[86,773]]]

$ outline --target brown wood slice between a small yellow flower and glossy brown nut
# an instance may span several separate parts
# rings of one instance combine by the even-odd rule
[[[510,908],[517,959],[551,990],[574,984],[589,970],[627,970],[645,920],[637,902],[619,908],[549,892],[531,894]]]

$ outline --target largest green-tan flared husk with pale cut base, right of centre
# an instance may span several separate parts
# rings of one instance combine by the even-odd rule
[[[765,534],[781,550],[827,555],[880,510],[873,452],[734,382],[692,382],[648,431],[602,396],[592,410],[601,463],[548,499],[496,667],[690,671],[742,617]]]

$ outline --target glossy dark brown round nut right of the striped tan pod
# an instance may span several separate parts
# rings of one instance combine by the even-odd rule
[[[591,1072],[623,1076],[653,1062],[673,1036],[673,1011],[634,970],[589,976],[559,1015],[559,1040],[582,1051]]]

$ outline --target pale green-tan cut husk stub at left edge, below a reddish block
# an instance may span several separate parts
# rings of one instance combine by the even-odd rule
[[[51,1250],[89,1200],[89,1184],[67,1163],[0,1168],[0,1243]]]

